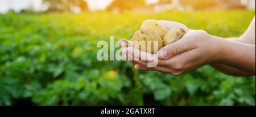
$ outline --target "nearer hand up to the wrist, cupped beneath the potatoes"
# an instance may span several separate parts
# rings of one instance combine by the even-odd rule
[[[135,68],[137,70],[156,70],[179,76],[205,64],[215,62],[218,59],[216,41],[207,32],[189,31],[181,40],[159,50],[158,56],[156,56],[159,57],[158,67],[148,68],[143,64],[135,64]],[[127,48],[127,50],[130,55],[133,55],[131,49]],[[134,53],[136,52],[134,51]],[[143,54],[145,53],[142,52],[141,55],[143,56]],[[149,61],[137,63],[142,62]]]

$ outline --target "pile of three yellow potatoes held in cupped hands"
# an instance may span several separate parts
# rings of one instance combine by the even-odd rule
[[[131,42],[133,47],[155,54],[162,47],[180,40],[185,33],[183,28],[173,28],[170,30],[156,20],[146,20],[142,24],[141,29],[134,33]],[[158,41],[158,45],[154,45],[154,41]]]

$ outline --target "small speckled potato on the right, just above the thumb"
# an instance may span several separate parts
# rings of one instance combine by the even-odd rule
[[[185,33],[186,32],[183,28],[173,28],[173,29],[171,29],[163,37],[164,46],[167,46],[169,44],[172,44],[172,43],[180,40],[184,36]]]

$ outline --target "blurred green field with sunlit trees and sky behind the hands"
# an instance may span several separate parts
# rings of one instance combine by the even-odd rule
[[[255,0],[0,0],[0,105],[255,105],[255,77],[183,76],[99,62],[96,45],[146,19],[238,37]]]

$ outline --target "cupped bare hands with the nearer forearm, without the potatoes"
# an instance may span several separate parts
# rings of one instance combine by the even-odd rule
[[[129,47],[128,41],[119,41],[122,53],[137,70],[154,70],[179,76],[205,64],[226,64],[255,74],[255,45],[241,44],[210,36],[205,31],[190,30],[172,21],[160,21],[167,28],[183,27],[187,33],[181,40],[167,45],[158,54]],[[158,59],[157,67],[147,67],[152,58]]]

